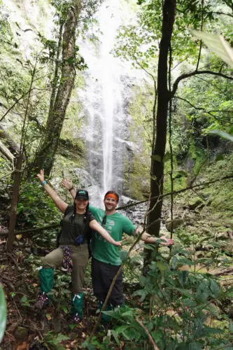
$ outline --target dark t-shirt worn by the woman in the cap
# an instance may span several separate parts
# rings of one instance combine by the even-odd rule
[[[74,244],[74,241],[78,235],[84,235],[85,225],[88,225],[85,221],[85,214],[73,213],[73,206],[68,206],[62,219],[62,232],[59,239],[59,244],[69,245]],[[90,221],[95,220],[94,216],[90,216]]]

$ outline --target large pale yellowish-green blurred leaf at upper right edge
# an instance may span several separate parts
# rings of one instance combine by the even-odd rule
[[[233,68],[233,50],[222,35],[204,33],[197,30],[192,30],[192,33],[202,39],[210,50]]]

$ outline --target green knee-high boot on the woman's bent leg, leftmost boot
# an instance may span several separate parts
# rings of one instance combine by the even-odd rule
[[[36,309],[44,309],[50,303],[50,295],[48,296],[47,293],[50,292],[53,287],[53,275],[53,269],[41,268],[39,270],[41,294],[38,296],[38,300],[35,304]]]

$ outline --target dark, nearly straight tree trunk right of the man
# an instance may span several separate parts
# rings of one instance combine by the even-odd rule
[[[168,89],[168,56],[171,35],[173,31],[176,10],[176,0],[165,0],[162,19],[162,38],[160,41],[160,54],[157,70],[157,115],[155,148],[152,151],[150,193],[151,197],[157,197],[163,193],[164,183],[164,153],[167,141],[167,114],[169,107]],[[162,213],[162,199],[150,201],[150,213],[148,216],[148,232],[159,236]]]

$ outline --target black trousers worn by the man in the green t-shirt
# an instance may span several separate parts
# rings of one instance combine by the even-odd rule
[[[106,262],[101,262],[92,257],[92,286],[94,296],[99,301],[104,302],[106,299],[108,290],[118,269],[120,269],[120,265],[106,264]],[[120,272],[108,301],[113,306],[118,306],[124,302],[122,280],[122,272]]]

